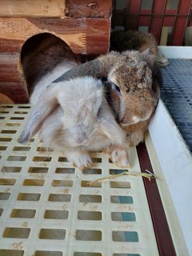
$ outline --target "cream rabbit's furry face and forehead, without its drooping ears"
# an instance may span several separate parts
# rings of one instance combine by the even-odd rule
[[[56,87],[55,94],[63,111],[63,141],[71,147],[89,147],[96,136],[102,134],[98,123],[103,101],[102,82],[85,77]]]

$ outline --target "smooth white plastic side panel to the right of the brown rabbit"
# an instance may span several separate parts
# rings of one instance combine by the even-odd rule
[[[186,245],[192,255],[192,155],[162,101],[158,102],[149,132]]]

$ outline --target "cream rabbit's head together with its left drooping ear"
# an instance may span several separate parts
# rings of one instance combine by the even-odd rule
[[[102,129],[101,123],[98,122],[98,115],[102,118],[101,109],[104,100],[100,80],[84,77],[54,83],[41,96],[40,101],[32,108],[19,142],[28,142],[41,130],[42,123],[46,122],[46,118],[49,118],[58,107],[59,120],[57,115],[55,122],[59,122],[59,126],[52,123],[51,130],[52,134],[56,132],[54,126],[55,130],[59,130],[60,142],[62,140],[63,145],[89,147],[96,139],[101,141],[103,137],[109,139],[107,130]]]

